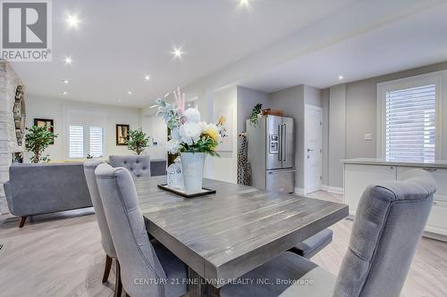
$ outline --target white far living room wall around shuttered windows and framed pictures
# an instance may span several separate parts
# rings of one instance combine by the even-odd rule
[[[81,103],[70,100],[48,99],[36,95],[26,96],[27,127],[34,124],[35,118],[55,120],[55,144],[50,145],[45,154],[50,155],[52,161],[68,160],[67,131],[64,131],[64,110],[80,109],[85,111],[105,112],[107,119],[105,127],[105,155],[110,154],[132,154],[127,146],[116,145],[115,125],[129,124],[131,129],[141,128],[141,115],[139,109],[119,107],[112,105],[101,105],[92,103]],[[25,161],[30,161],[30,153],[25,156]]]

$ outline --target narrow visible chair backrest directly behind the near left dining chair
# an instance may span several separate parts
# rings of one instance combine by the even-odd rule
[[[99,196],[99,191],[97,189],[95,169],[97,169],[97,165],[101,163],[101,161],[86,161],[84,163],[84,174],[87,180],[87,186],[89,187],[91,202],[97,216],[97,225],[101,232],[101,244],[103,245],[103,250],[109,257],[116,259],[114,242],[112,240],[112,235],[110,235],[107,219],[105,219],[103,202],[101,202],[101,197]]]

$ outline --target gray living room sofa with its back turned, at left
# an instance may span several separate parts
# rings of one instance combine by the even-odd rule
[[[92,206],[82,162],[13,164],[4,184],[8,208],[21,217]]]

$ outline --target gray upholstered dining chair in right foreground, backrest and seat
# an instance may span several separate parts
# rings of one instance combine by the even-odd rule
[[[338,277],[305,258],[284,252],[241,276],[267,278],[274,285],[225,285],[220,295],[397,297],[426,226],[435,191],[434,179],[421,169],[410,170],[405,180],[368,186],[358,204],[350,246]]]

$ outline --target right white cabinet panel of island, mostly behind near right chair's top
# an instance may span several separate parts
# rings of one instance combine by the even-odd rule
[[[400,180],[405,172],[412,167],[398,167],[397,179]],[[436,235],[447,236],[447,169],[426,168],[436,182],[436,193],[430,216],[426,222],[426,231]]]

